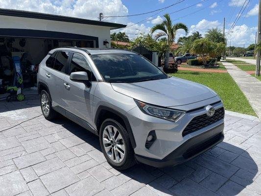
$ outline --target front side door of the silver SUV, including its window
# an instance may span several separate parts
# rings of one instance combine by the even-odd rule
[[[70,79],[72,72],[87,72],[90,83],[72,81]],[[73,52],[69,62],[69,75],[64,78],[65,109],[89,124],[93,122],[93,97],[96,85],[95,76],[87,59],[82,54]]]

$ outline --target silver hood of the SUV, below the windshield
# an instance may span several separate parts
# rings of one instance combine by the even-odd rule
[[[118,93],[164,107],[186,105],[216,96],[206,86],[177,77],[111,85]]]

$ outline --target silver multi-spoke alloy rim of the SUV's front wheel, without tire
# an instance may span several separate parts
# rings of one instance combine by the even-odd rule
[[[119,130],[115,126],[108,125],[104,128],[102,143],[108,157],[112,161],[120,163],[123,160],[125,144]]]

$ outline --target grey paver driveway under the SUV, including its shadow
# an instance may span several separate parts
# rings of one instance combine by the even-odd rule
[[[0,130],[9,128],[0,132],[0,196],[261,194],[260,122],[226,115],[225,141],[202,156],[120,172],[107,164],[95,135],[65,118],[46,121],[38,103],[0,101]]]

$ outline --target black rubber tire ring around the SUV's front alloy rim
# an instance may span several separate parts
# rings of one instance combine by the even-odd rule
[[[107,153],[106,153],[106,151],[104,149],[104,146],[103,146],[103,142],[102,142],[103,130],[108,125],[113,125],[113,126],[115,126],[119,130],[119,133],[121,134],[123,142],[125,144],[125,156],[123,158],[123,161],[120,162],[120,163],[116,163],[116,162],[112,161],[110,159],[110,157],[107,155]],[[119,170],[121,170],[122,168],[125,169],[125,165],[126,165],[126,162],[128,162],[128,159],[134,159],[133,148],[131,146],[129,135],[128,135],[127,131],[125,130],[125,128],[120,123],[118,123],[117,121],[115,121],[113,119],[106,119],[101,124],[100,132],[99,132],[99,140],[100,140],[100,147],[102,149],[102,152],[103,152],[106,160],[114,168],[119,169]]]

